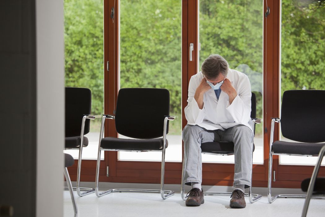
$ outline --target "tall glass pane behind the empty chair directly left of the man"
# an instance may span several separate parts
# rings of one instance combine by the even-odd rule
[[[120,1],[120,88],[166,88],[170,115],[166,161],[181,161],[180,0]],[[125,138],[119,135],[120,138]],[[161,152],[119,152],[119,160],[161,161]]]

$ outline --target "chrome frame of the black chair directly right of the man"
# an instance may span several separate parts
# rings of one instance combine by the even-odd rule
[[[274,125],[275,122],[280,123],[281,120],[278,117],[272,117],[271,122],[271,134],[270,134],[270,152],[269,152],[269,161],[268,161],[268,184],[267,184],[267,200],[269,203],[272,203],[277,198],[305,198],[306,195],[275,195],[272,197],[271,195],[271,178],[272,178],[272,162],[273,162],[273,155],[288,155],[288,156],[318,156],[318,155],[291,155],[291,154],[277,154],[272,151],[273,139],[274,139]],[[273,177],[273,181],[274,177]],[[315,199],[325,199],[324,197],[313,197]]]

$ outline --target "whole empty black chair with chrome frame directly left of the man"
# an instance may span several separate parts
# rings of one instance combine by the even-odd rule
[[[115,119],[116,131],[134,139],[103,138],[105,119]],[[160,193],[162,199],[174,195],[174,191],[164,190],[165,149],[168,146],[166,134],[168,121],[175,117],[169,116],[169,91],[158,88],[123,88],[119,90],[116,113],[103,115],[98,144],[96,195],[101,197],[112,192],[146,192]],[[162,138],[159,138],[162,137]],[[132,151],[132,152],[162,152],[161,188],[150,189],[110,189],[98,192],[100,152]]]

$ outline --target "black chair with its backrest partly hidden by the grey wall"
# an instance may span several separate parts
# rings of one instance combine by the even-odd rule
[[[91,91],[88,88],[65,88],[65,149],[79,150],[77,187],[73,188],[82,197],[94,193],[94,188],[80,187],[80,171],[83,147],[88,146],[91,111]],[[83,144],[83,145],[81,145]],[[67,188],[65,188],[67,190]],[[81,193],[83,191],[83,193]]]

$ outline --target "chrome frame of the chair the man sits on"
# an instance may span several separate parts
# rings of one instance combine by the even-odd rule
[[[252,118],[252,128],[254,129],[255,124],[260,124],[261,123],[261,119],[260,118]],[[219,155],[219,156],[229,156],[229,155],[234,155],[234,154],[212,154],[210,152],[204,153],[202,152],[202,154],[209,154],[209,155]],[[183,159],[185,158],[185,153],[183,156]],[[181,197],[183,200],[186,200],[186,196],[184,194],[184,170],[185,170],[185,161],[183,160],[183,167],[182,167],[182,183],[181,183]],[[252,167],[251,167],[251,183],[252,183],[252,179],[253,179],[253,155],[252,155]],[[204,195],[219,195],[219,196],[230,196],[232,193],[230,192],[203,192]],[[249,187],[248,189],[248,194],[245,194],[246,197],[249,198],[249,202],[254,203],[257,200],[262,198],[262,195],[257,195],[257,194],[252,194],[252,186]]]

